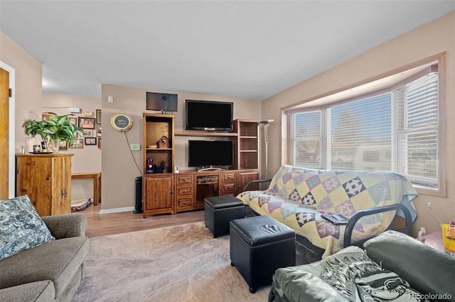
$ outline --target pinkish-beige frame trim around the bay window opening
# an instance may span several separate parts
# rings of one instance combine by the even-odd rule
[[[352,101],[356,101],[359,99],[366,99],[369,96],[375,96],[381,93],[385,92],[390,92],[393,91],[394,89],[397,89],[400,86],[404,86],[404,82],[409,83],[412,82],[414,79],[418,79],[419,77],[422,77],[424,74],[428,73],[428,70],[422,70],[420,72],[416,72],[412,74],[412,76],[408,77],[405,80],[401,80],[395,83],[392,83],[390,86],[387,86],[385,88],[381,89],[372,89],[370,91],[366,91],[363,94],[360,95],[355,95],[355,96],[348,96],[344,99],[336,99],[334,96],[337,94],[339,95],[348,95],[346,94],[346,91],[353,91],[355,89],[358,89],[358,87],[365,85],[365,84],[370,84],[375,81],[379,81],[381,79],[385,79],[386,77],[391,77],[395,74],[400,74],[402,72],[407,72],[411,69],[418,68],[418,67],[423,67],[425,65],[429,65],[432,62],[437,62],[438,66],[438,75],[439,75],[439,102],[438,102],[438,118],[439,118],[439,123],[438,123],[438,167],[437,167],[437,172],[438,172],[438,186],[437,188],[430,188],[426,186],[422,186],[419,184],[413,184],[414,188],[416,189],[417,193],[419,194],[424,194],[424,195],[430,195],[430,196],[440,196],[440,197],[446,197],[446,52],[441,52],[437,55],[433,55],[431,57],[427,57],[425,59],[412,62],[410,64],[404,65],[402,67],[398,67],[396,69],[392,69],[389,72],[385,72],[382,74],[378,74],[375,77],[371,77],[368,79],[365,79],[360,82],[355,82],[353,84],[350,84],[348,86],[343,86],[340,89],[336,89],[333,91],[328,91],[324,94],[320,94],[318,96],[311,97],[310,99],[306,99],[304,101],[301,101],[297,104],[292,104],[290,106],[287,106],[285,108],[282,108],[282,118],[283,118],[283,125],[287,125],[287,133],[284,134],[284,138],[287,140],[287,144],[285,145],[283,149],[283,155],[285,155],[282,158],[282,162],[289,164],[291,163],[291,157],[290,157],[290,150],[289,148],[291,147],[292,143],[292,132],[291,132],[291,114],[296,113],[296,112],[303,112],[303,111],[315,111],[315,110],[321,110],[323,108],[330,108],[331,106],[335,106],[338,104],[344,104],[344,103],[349,103]],[[319,100],[324,99],[324,98],[333,98],[332,101],[328,101],[327,103],[321,103]],[[304,106],[304,109],[299,108]],[[330,142],[328,142],[328,151],[330,152]],[[392,155],[394,156],[394,155]],[[324,166],[323,166],[324,167]]]

